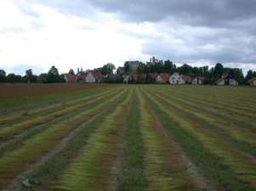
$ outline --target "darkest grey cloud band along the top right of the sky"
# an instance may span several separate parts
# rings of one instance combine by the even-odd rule
[[[254,0],[93,0],[91,3],[134,21],[154,22],[172,17],[195,25],[222,25],[256,15]]]

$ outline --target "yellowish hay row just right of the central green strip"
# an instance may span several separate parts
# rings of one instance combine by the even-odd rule
[[[140,93],[139,102],[147,190],[196,190],[178,149],[162,131],[161,122]]]

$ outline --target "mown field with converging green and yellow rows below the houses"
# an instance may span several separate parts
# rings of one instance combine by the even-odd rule
[[[255,88],[54,86],[0,88],[0,190],[256,190]]]

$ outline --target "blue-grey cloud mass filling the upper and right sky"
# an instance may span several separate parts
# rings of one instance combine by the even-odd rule
[[[38,0],[30,0],[37,2]],[[101,10],[130,23],[149,22],[166,37],[144,39],[142,53],[177,61],[256,63],[255,0],[54,0],[39,1],[87,17]],[[176,32],[175,32],[176,31]],[[130,33],[130,34],[128,34]],[[176,44],[175,40],[183,43]]]

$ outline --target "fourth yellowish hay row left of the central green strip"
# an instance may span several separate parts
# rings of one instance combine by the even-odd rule
[[[57,103],[53,104],[41,104],[38,103],[37,107],[34,107],[32,109],[22,110],[19,112],[9,112],[7,115],[2,115],[0,118],[0,125],[7,126],[12,125],[16,121],[27,121],[30,119],[33,119],[40,115],[48,115],[48,113],[54,113],[54,111],[57,110],[63,110],[67,106],[71,106],[74,104],[82,104],[82,102],[88,101],[90,98],[94,98],[94,96],[104,96],[107,93],[110,93],[113,91],[113,88],[96,88],[94,91],[89,91],[88,93],[83,93],[83,95],[80,95],[78,98],[68,98],[66,100],[60,99]]]

